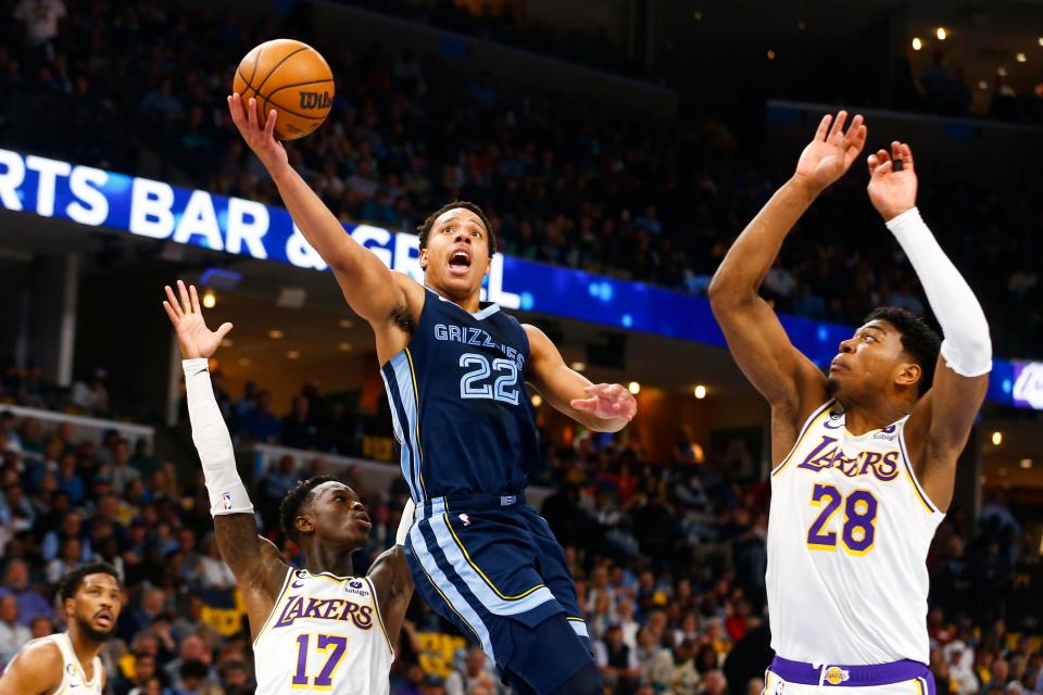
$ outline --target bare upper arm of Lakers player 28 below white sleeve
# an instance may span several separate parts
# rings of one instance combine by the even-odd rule
[[[916,477],[931,503],[945,511],[953,501],[956,462],[967,445],[985,400],[989,375],[964,377],[939,356],[934,383],[905,425],[905,445]]]

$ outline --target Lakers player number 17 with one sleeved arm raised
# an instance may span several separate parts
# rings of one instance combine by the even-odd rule
[[[355,577],[351,556],[365,547],[372,527],[355,492],[318,476],[290,490],[279,505],[282,528],[304,551],[306,566],[289,567],[276,546],[257,535],[253,505],[236,471],[228,427],[210,382],[208,361],[231,324],[206,328],[196,288],[178,281],[163,302],[177,331],[192,440],[203,464],[214,538],[236,577],[253,636],[260,695],[297,690],[332,695],[387,695],[392,646],[413,596],[402,544],[414,506],[406,505],[395,546]]]

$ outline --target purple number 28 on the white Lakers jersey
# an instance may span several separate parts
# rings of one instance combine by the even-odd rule
[[[807,547],[835,551],[839,540],[849,555],[865,555],[872,549],[878,504],[871,492],[854,490],[845,500],[835,485],[816,483],[812,489],[810,505],[822,510],[807,530]],[[844,508],[844,523],[838,533],[832,520],[841,506]]]

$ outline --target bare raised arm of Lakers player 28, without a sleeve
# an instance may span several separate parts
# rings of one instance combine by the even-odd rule
[[[776,419],[799,426],[826,399],[822,374],[790,343],[771,307],[757,294],[782,241],[818,194],[851,167],[866,126],[847,113],[825,116],[804,148],[793,177],[757,213],[732,244],[709,285],[709,301],[728,348],[746,378],[771,404]],[[830,127],[832,126],[832,127]],[[776,452],[792,445],[772,438]],[[793,437],[795,437],[795,432]],[[787,438],[781,438],[786,440]],[[776,456],[776,460],[779,456]]]

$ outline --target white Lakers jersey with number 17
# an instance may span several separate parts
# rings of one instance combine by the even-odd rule
[[[257,695],[387,695],[394,653],[366,577],[288,570],[253,643]]]

